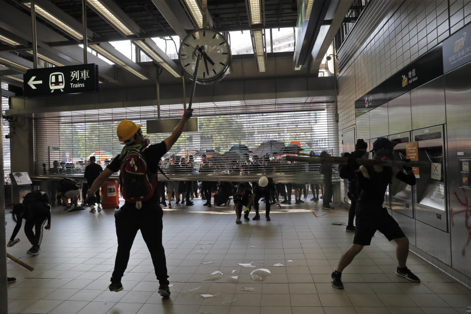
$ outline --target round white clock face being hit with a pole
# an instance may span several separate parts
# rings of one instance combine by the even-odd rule
[[[224,78],[231,62],[231,49],[224,36],[214,30],[201,28],[183,39],[179,59],[184,72],[191,78],[195,73],[198,54],[200,63],[197,82],[204,84]]]

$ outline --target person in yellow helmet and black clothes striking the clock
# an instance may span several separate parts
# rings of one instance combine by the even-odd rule
[[[186,109],[184,111],[182,120],[180,120],[180,123],[177,125],[175,130],[173,130],[172,135],[158,144],[148,146],[142,151],[148,170],[150,173],[155,174],[156,180],[158,160],[160,160],[160,158],[168,152],[168,150],[170,150],[173,144],[178,140],[186,122],[192,116],[192,111],[192,109]],[[142,149],[148,145],[149,140],[143,136],[140,128],[141,126],[137,126],[134,122],[129,120],[121,122],[118,126],[116,130],[118,138],[121,142],[126,144],[123,149],[124,153],[126,153],[126,150],[128,149],[127,147],[137,147],[138,149]],[[114,172],[120,169],[120,156],[121,154],[116,156],[97,180],[95,180],[88,192],[88,198],[91,198],[98,188],[105,183],[105,181]],[[87,199],[87,203],[88,202],[89,200]],[[138,205],[140,205],[139,209],[137,208]],[[126,201],[121,209],[115,212],[118,251],[116,253],[111,284],[108,287],[110,291],[118,292],[123,290],[121,278],[128,266],[132,242],[134,241],[137,231],[140,230],[149,252],[151,253],[152,262],[154,263],[154,270],[159,282],[158,293],[163,297],[170,296],[165,251],[162,245],[162,215],[163,211],[158,204],[156,195],[154,195],[154,197],[149,201],[139,202],[139,204],[137,204],[137,202],[131,203]]]

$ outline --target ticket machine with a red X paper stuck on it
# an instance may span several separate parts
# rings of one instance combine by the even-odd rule
[[[430,165],[420,166],[416,174],[415,218],[448,232],[444,126],[413,131],[412,139],[418,142],[419,160],[430,161]]]

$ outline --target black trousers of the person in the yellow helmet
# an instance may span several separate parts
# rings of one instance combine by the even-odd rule
[[[118,252],[114,263],[111,281],[118,282],[128,267],[130,251],[137,231],[140,230],[151,253],[156,277],[161,285],[168,285],[167,264],[162,245],[163,211],[156,200],[147,201],[141,209],[135,204],[125,203],[114,213]]]

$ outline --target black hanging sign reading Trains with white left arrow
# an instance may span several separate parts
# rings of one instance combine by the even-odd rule
[[[23,80],[26,97],[94,93],[98,91],[98,65],[31,69]]]

